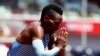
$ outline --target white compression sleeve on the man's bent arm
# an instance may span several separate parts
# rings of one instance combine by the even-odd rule
[[[60,51],[59,47],[55,47],[51,50],[44,50],[44,45],[41,39],[35,39],[32,43],[39,56],[54,56]]]

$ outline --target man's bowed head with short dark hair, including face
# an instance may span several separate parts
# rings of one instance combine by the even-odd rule
[[[46,33],[53,33],[62,22],[62,9],[54,4],[43,8],[41,14],[41,25]]]

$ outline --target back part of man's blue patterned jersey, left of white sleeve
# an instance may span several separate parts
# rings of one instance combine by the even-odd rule
[[[32,45],[21,44],[15,41],[9,49],[7,56],[37,56]]]

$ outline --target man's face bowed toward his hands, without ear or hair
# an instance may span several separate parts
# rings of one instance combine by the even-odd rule
[[[48,32],[54,32],[58,29],[60,23],[62,22],[62,15],[54,13],[53,17],[49,17],[46,23],[46,29]]]

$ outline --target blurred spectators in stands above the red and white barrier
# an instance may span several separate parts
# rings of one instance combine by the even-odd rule
[[[64,9],[64,17],[79,18],[82,16],[82,6],[87,4],[87,17],[100,18],[98,1],[91,1],[82,4],[84,0],[0,0],[0,13],[39,15],[44,6],[54,3]]]

